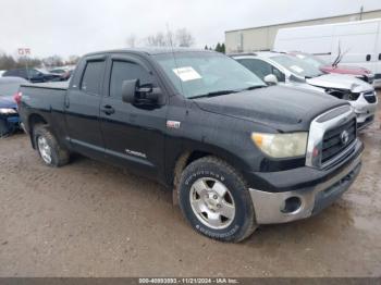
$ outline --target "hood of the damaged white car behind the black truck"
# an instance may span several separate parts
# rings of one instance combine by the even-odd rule
[[[316,87],[349,90],[352,92],[373,90],[370,84],[345,74],[324,74],[318,77],[307,78],[306,82]]]

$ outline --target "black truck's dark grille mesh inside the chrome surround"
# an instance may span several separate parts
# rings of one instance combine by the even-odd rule
[[[342,134],[346,131],[348,140],[343,142]],[[325,132],[322,142],[321,163],[324,164],[339,156],[356,139],[356,119]]]

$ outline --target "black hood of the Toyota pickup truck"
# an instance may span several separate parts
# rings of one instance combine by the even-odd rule
[[[308,129],[324,111],[347,104],[330,95],[288,86],[194,99],[205,111],[268,125],[274,129]]]

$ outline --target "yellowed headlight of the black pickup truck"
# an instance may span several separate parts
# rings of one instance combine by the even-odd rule
[[[293,158],[306,154],[308,133],[261,134],[253,133],[256,146],[272,158]]]

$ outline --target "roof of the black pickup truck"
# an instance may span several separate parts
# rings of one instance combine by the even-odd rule
[[[133,49],[115,49],[115,50],[105,50],[96,51],[85,54],[84,57],[98,55],[106,53],[144,53],[148,55],[162,54],[162,53],[179,53],[179,52],[216,52],[205,49],[193,49],[193,48],[170,48],[170,47],[157,47],[157,48],[133,48]]]

